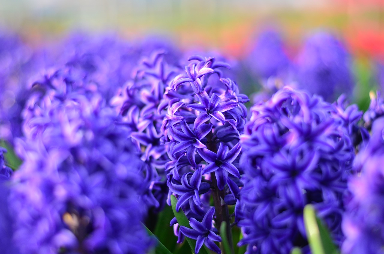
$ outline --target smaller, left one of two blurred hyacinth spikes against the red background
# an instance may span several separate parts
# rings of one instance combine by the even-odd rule
[[[280,33],[273,29],[262,31],[247,58],[247,67],[258,78],[286,78],[292,63]]]

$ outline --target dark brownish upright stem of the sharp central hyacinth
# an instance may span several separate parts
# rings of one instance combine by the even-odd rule
[[[216,144],[213,140],[213,133],[210,132],[207,135],[207,148],[211,150],[212,152],[217,153]],[[229,218],[229,212],[228,212],[228,206],[224,203],[224,190],[219,190],[217,187],[217,180],[215,176],[215,172],[211,172],[211,181],[212,181],[212,196],[214,199],[214,205],[215,205],[215,211],[216,211],[216,228],[220,231],[220,227],[223,221],[226,222],[226,230],[227,233],[227,239],[228,244],[230,246],[231,252],[234,253],[233,249],[233,241],[232,241],[232,230],[231,230],[231,223]],[[222,246],[222,245],[221,245]],[[225,253],[225,251],[222,249],[222,252],[224,254],[231,254],[231,253]]]

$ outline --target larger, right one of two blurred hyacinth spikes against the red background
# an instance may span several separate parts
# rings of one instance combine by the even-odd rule
[[[352,94],[351,57],[343,43],[333,35],[326,32],[312,35],[297,60],[297,80],[301,89],[329,102],[340,94]]]

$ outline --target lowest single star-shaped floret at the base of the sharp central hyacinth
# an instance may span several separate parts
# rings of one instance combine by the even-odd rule
[[[217,235],[217,229],[212,228],[212,220],[215,213],[215,208],[211,208],[205,214],[202,222],[191,218],[189,223],[192,228],[180,226],[180,231],[187,237],[196,239],[195,253],[199,253],[203,244],[212,251],[221,254],[220,248],[214,243],[221,242],[222,239]]]

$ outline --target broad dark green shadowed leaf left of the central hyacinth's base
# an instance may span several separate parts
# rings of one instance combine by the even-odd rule
[[[174,217],[172,207],[166,206],[157,218],[154,235],[170,251],[174,251],[177,244],[177,237],[173,233],[173,228],[169,226],[170,220]]]

